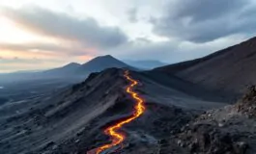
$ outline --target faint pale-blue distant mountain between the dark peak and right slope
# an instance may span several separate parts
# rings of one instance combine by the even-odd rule
[[[130,60],[124,60],[126,64],[129,64],[131,66],[141,68],[141,69],[153,69],[159,66],[167,65],[165,63],[154,61],[154,60],[145,60],[145,61],[130,61]]]

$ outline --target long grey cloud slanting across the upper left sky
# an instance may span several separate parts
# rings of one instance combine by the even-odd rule
[[[21,26],[45,36],[74,40],[99,48],[115,47],[128,39],[119,28],[100,26],[94,18],[78,19],[38,7],[1,10]]]

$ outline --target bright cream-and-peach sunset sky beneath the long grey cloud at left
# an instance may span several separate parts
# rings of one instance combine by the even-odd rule
[[[70,57],[72,52],[61,52],[61,50],[72,50],[77,47],[83,50],[83,47],[77,45],[75,47],[72,42],[30,32],[4,15],[0,15],[0,24],[0,62],[4,62],[0,66],[0,73],[52,68],[72,61],[82,64],[93,58],[86,54]],[[50,49],[51,46],[52,48],[59,46],[60,49],[56,48],[58,51],[54,51]],[[88,51],[95,52],[94,49]]]

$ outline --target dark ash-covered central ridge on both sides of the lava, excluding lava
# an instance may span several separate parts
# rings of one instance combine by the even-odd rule
[[[50,95],[0,106],[0,151],[85,153],[108,141],[102,129],[132,114],[134,102],[125,91],[128,81],[123,74],[123,69],[109,68]],[[201,98],[199,92],[207,97],[206,91],[191,85],[185,89],[186,83],[165,74],[130,71],[130,75],[140,82],[135,90],[146,100],[147,111],[124,128],[128,135],[124,153],[156,152],[158,141],[168,132],[225,105]]]

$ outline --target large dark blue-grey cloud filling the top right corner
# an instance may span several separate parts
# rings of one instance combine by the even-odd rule
[[[152,23],[159,36],[207,42],[255,33],[255,10],[252,0],[175,0]]]

